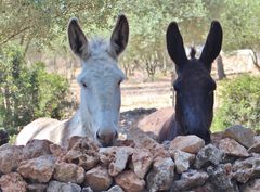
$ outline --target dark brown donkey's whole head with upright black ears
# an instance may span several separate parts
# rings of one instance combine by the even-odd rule
[[[222,28],[219,22],[211,23],[207,41],[199,59],[194,52],[188,60],[178,24],[172,22],[167,29],[167,49],[176,63],[178,78],[173,84],[176,95],[176,119],[182,135],[196,135],[210,141],[210,125],[213,113],[216,82],[210,76],[211,65],[222,44]]]

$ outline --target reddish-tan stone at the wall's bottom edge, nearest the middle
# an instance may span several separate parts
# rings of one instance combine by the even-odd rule
[[[125,170],[116,176],[115,182],[126,192],[141,192],[145,187],[145,181],[140,179],[132,170]]]

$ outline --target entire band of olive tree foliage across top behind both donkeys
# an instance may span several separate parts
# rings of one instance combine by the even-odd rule
[[[119,13],[130,22],[130,47],[123,62],[131,64],[125,66],[144,61],[154,65],[158,59],[162,68],[170,65],[165,33],[171,21],[179,23],[187,47],[202,46],[209,23],[220,20],[225,51],[260,49],[259,0],[4,0],[0,2],[0,44],[16,41],[26,51],[47,47],[44,53],[54,49],[60,54],[62,48],[67,49],[66,26],[72,16],[79,18],[87,36],[93,31],[108,35]]]

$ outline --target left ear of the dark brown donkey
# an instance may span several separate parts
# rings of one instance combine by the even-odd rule
[[[186,52],[183,46],[183,39],[178,24],[171,22],[166,33],[167,50],[171,60],[180,68],[182,63],[187,61]]]

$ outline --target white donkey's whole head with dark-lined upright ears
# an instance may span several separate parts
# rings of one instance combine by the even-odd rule
[[[125,15],[118,17],[109,41],[88,41],[75,18],[68,25],[70,48],[82,64],[78,76],[81,121],[86,132],[103,146],[112,145],[118,136],[120,82],[125,76],[118,67],[117,57],[127,47],[128,36]]]

